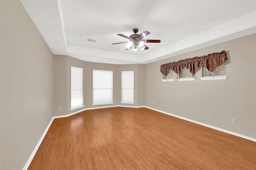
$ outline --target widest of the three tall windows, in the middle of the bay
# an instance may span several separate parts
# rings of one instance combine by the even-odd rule
[[[92,105],[113,104],[113,71],[93,70]]]

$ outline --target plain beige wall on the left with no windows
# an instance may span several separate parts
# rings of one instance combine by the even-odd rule
[[[52,115],[53,54],[20,1],[0,1],[1,170],[20,170]]]

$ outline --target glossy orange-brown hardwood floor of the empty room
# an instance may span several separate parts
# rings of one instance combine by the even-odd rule
[[[54,119],[28,169],[256,169],[256,142],[147,108]]]

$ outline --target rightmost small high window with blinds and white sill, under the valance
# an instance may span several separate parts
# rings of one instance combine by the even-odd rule
[[[210,72],[206,67],[202,66],[201,80],[226,79],[226,62]]]

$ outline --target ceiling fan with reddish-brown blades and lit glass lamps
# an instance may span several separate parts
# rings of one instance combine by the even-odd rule
[[[138,51],[138,47],[140,47],[141,49],[148,49],[148,47],[145,45],[145,43],[160,43],[161,40],[142,40],[142,38],[146,37],[148,34],[150,34],[150,32],[148,31],[144,31],[141,34],[136,34],[138,32],[137,28],[133,29],[134,34],[130,35],[130,37],[125,36],[123,34],[117,34],[118,36],[124,37],[129,39],[129,41],[127,42],[119,42],[119,43],[112,43],[114,44],[120,44],[120,43],[127,43],[126,50],[129,50],[132,48],[132,46],[134,46],[134,48],[132,49],[133,51]]]

